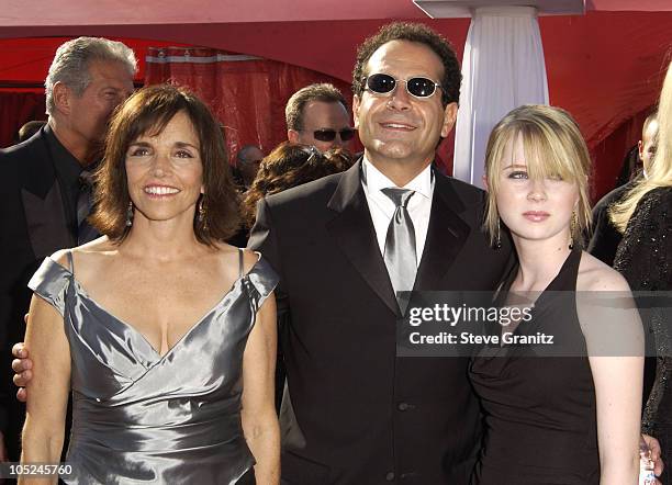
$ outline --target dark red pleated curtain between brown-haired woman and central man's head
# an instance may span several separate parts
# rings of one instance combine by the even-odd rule
[[[150,48],[145,86],[171,82],[209,103],[224,128],[231,158],[245,145],[268,154],[287,139],[284,105],[299,89],[331,82],[351,106],[350,84],[302,67],[206,48]]]

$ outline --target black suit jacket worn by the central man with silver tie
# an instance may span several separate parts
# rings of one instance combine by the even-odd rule
[[[484,193],[435,177],[415,289],[492,290],[509,250],[480,229]],[[481,438],[468,359],[396,357],[360,163],[261,201],[250,247],[280,274],[283,483],[467,484]]]

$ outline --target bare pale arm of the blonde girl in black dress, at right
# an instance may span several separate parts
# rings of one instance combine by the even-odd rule
[[[639,474],[643,330],[628,284],[604,268],[580,290],[576,311],[595,384],[602,485],[632,485]],[[606,293],[601,293],[606,292]]]

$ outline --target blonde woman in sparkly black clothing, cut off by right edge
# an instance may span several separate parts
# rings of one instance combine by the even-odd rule
[[[647,176],[611,210],[625,233],[614,268],[634,291],[672,290],[672,67],[658,106],[658,150]],[[649,313],[657,362],[656,380],[645,406],[642,428],[658,438],[665,463],[672,462],[672,330],[669,308]],[[672,483],[665,473],[663,484]]]

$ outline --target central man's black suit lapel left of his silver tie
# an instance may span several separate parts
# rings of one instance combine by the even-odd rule
[[[327,204],[336,215],[326,228],[371,290],[399,315],[394,290],[378,247],[371,213],[361,187],[360,163],[355,163],[340,178]]]

